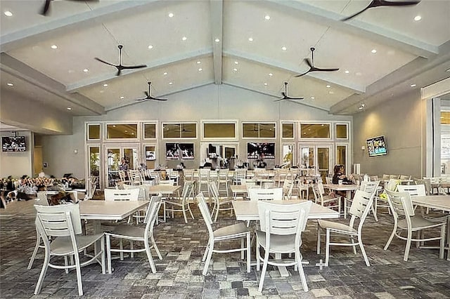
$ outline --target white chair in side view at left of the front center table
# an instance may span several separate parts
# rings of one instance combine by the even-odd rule
[[[207,227],[209,236],[208,243],[205,248],[205,253],[203,254],[202,258],[202,261],[205,262],[205,266],[203,267],[203,275],[207,274],[208,267],[210,266],[212,258],[212,253],[231,252],[240,252],[241,259],[244,259],[244,253],[247,253],[247,272],[250,273],[250,230],[248,230],[248,227],[246,227],[243,222],[239,222],[235,225],[228,225],[225,227],[217,228],[217,230],[213,230],[210,210],[206,203],[205,197],[203,196],[203,192],[200,192],[195,197],[195,199],[197,199],[198,208],[200,208],[200,213],[203,216],[203,220],[205,220],[205,225]],[[240,247],[232,247],[233,244],[230,243],[230,245],[224,249],[214,248],[214,244],[218,242],[231,241],[236,239],[240,239]]]

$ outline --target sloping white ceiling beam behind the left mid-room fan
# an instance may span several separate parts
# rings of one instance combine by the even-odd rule
[[[167,67],[169,65],[174,65],[179,62],[184,62],[188,60],[196,60],[200,58],[204,58],[207,56],[210,56],[212,53],[212,48],[205,48],[198,51],[188,52],[188,53],[182,53],[181,55],[175,55],[167,58],[163,58],[160,60],[152,60],[150,62],[147,62],[147,67],[143,67],[141,69],[136,69],[135,71],[127,71],[121,74],[120,76],[115,76],[115,72],[111,72],[111,74],[106,74],[102,76],[98,76],[95,78],[89,78],[82,81],[78,81],[75,84],[70,84],[67,86],[66,91],[69,93],[74,93],[75,91],[79,90],[80,88],[92,86],[95,84],[101,84],[104,81],[111,81],[118,78],[123,78],[126,76],[130,76],[131,74],[136,73],[142,73],[142,72],[148,72],[151,69],[158,69],[160,67]]]

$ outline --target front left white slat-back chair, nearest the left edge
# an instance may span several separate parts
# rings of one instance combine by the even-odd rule
[[[76,270],[78,295],[83,295],[81,267],[91,263],[100,263],[102,273],[105,274],[105,238],[104,234],[82,234],[82,222],[79,216],[79,204],[62,204],[59,206],[34,205],[36,208],[36,225],[39,234],[42,236],[45,246],[45,258],[42,265],[41,274],[37,281],[34,295],[41,291],[44,277],[49,267],[54,269]],[[51,238],[51,242],[49,239]],[[89,260],[80,261],[79,253],[85,248],[101,242],[98,252],[91,256]],[[63,257],[64,265],[52,261],[55,257]],[[68,257],[73,263],[68,263]]]

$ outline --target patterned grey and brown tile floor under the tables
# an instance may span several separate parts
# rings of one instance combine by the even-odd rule
[[[35,241],[33,201],[8,204],[0,211],[0,298],[77,298],[75,272],[49,268],[39,295],[33,295],[42,265],[42,254],[32,270],[27,264]],[[394,239],[389,250],[383,246],[392,230],[392,216],[371,216],[364,227],[364,245],[371,267],[349,247],[332,247],[330,266],[315,266],[324,255],[316,255],[316,223],[309,222],[303,234],[302,253],[309,292],[302,290],[300,277],[280,277],[269,266],[262,293],[257,291],[256,267],[245,271],[239,253],[214,253],[206,276],[201,261],[207,230],[197,207],[195,220],[185,224],[181,215],[155,227],[155,239],[163,255],[155,258],[158,272],[150,271],[146,255],[113,260],[113,274],[101,274],[99,265],[82,268],[86,298],[450,298],[450,261],[439,260],[434,249],[411,248],[403,261],[404,241]],[[344,221],[345,220],[340,220]],[[236,222],[219,215],[219,226]],[[88,230],[89,230],[88,223]],[[155,257],[155,254],[154,254]]]

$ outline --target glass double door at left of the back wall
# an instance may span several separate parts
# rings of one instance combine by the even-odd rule
[[[105,145],[105,185],[115,187],[119,179],[119,166],[122,158],[128,169],[139,166],[138,145]]]

